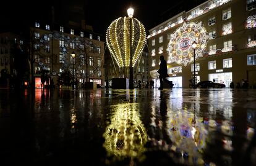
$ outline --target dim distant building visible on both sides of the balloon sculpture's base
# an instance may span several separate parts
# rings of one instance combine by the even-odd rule
[[[110,53],[105,54],[106,66],[105,66],[105,80],[108,81],[108,86],[112,86],[112,79],[117,77],[125,77],[124,74],[120,76],[119,68],[111,58]],[[148,52],[143,51],[142,56],[134,66],[134,79],[136,82],[142,81],[142,85],[145,86],[149,81],[149,63],[148,63]],[[136,86],[136,85],[135,85]]]

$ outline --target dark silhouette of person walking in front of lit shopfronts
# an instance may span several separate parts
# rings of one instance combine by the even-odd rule
[[[160,74],[159,79],[160,79],[160,87],[158,88],[159,90],[163,90],[163,82],[167,82],[171,88],[173,88],[173,83],[168,81],[166,77],[169,77],[167,73],[167,63],[166,60],[164,60],[164,56],[160,56],[160,68],[158,69],[157,73]]]

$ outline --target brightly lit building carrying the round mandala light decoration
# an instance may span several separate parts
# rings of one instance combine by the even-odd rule
[[[170,63],[168,42],[184,20],[202,22],[210,36],[203,57],[195,60],[197,81],[210,80],[224,83],[249,81],[256,86],[256,2],[252,0],[209,0],[194,9],[181,12],[149,30],[150,74],[156,86],[160,55],[168,62],[168,79],[174,87],[189,87],[194,64],[187,66]]]

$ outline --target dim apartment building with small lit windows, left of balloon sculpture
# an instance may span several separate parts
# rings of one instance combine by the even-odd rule
[[[30,28],[32,71],[36,87],[40,87],[40,72],[49,71],[54,82],[64,70],[80,82],[96,82],[104,85],[104,42],[99,34],[35,22]],[[73,57],[73,56],[74,57]]]

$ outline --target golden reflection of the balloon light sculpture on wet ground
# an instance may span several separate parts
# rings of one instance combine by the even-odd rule
[[[103,134],[103,146],[109,154],[117,157],[140,157],[145,151],[147,133],[140,121],[137,103],[116,105],[111,124]]]

